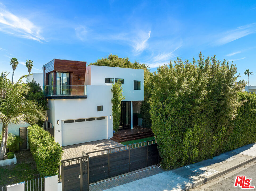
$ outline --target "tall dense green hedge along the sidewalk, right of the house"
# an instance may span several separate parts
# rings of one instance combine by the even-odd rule
[[[233,63],[199,54],[160,66],[149,98],[152,131],[165,169],[256,142],[255,95],[242,93]]]

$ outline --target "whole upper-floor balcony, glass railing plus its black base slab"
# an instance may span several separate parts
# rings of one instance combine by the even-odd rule
[[[50,99],[87,98],[86,85],[46,85],[43,92]]]

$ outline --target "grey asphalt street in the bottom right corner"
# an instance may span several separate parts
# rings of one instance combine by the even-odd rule
[[[246,176],[246,179],[252,179],[251,185],[255,186],[254,189],[242,189],[235,187],[236,176]],[[242,191],[242,190],[256,190],[256,161],[246,164],[240,168],[235,169],[225,175],[213,179],[205,184],[189,189],[189,191]]]

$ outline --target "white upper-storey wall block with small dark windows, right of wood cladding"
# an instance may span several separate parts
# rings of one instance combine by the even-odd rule
[[[89,85],[107,85],[105,78],[122,78],[124,79],[123,95],[124,101],[142,101],[144,100],[144,70],[133,68],[118,68],[108,66],[87,66],[85,84],[87,84],[87,70],[89,70]],[[141,90],[133,89],[133,80],[141,81]]]

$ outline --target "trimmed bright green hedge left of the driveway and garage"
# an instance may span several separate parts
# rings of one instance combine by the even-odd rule
[[[60,144],[37,124],[27,127],[27,130],[29,147],[40,176],[57,175],[63,153]]]

